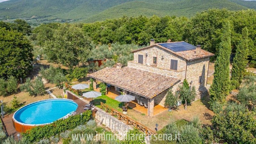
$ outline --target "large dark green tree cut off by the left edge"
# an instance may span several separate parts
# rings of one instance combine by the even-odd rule
[[[21,33],[0,28],[0,76],[24,78],[32,70],[32,47]]]

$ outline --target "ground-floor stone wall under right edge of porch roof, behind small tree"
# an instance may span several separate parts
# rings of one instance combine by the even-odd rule
[[[175,94],[175,92],[178,90],[179,85],[182,84],[180,81],[174,84],[171,89],[172,93]],[[164,92],[158,94],[156,97],[154,97],[155,103],[164,107],[164,101],[166,99],[166,95],[169,89],[165,90]]]

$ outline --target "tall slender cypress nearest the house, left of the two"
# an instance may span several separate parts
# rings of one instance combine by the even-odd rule
[[[230,23],[227,21],[222,28],[219,52],[214,66],[214,78],[210,88],[211,102],[223,102],[230,90],[229,58],[231,54]]]

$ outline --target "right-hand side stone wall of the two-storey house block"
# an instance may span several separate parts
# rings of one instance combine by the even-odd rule
[[[205,88],[209,67],[209,57],[188,61],[186,79],[191,86],[195,86],[196,90]],[[201,83],[199,83],[201,76]]]

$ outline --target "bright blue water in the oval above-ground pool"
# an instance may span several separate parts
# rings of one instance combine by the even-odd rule
[[[76,111],[77,107],[71,100],[43,100],[20,108],[14,114],[14,119],[24,124],[47,124]]]

